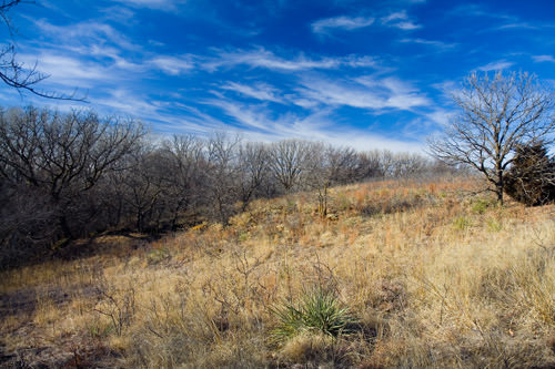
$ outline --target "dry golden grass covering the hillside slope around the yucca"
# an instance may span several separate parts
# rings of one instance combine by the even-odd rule
[[[548,368],[555,207],[497,207],[472,178],[374,182],[253,203],[229,226],[0,274],[2,366]],[[92,255],[92,256],[91,256]],[[349,309],[337,336],[276,339],[314,290]]]

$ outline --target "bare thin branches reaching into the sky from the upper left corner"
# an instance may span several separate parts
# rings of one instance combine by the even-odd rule
[[[9,11],[20,3],[32,3],[32,1],[3,0],[0,2],[0,19],[8,28],[12,38],[14,37],[16,31],[9,16]],[[40,90],[37,85],[39,82],[48,79],[49,75],[39,72],[37,70],[37,63],[34,63],[34,65],[26,65],[24,63],[18,61],[16,57],[17,47],[13,41],[8,42],[8,44],[0,48],[0,80],[2,80],[2,82],[10,88],[14,88],[20,93],[27,91],[37,96],[47,99],[85,101],[84,96],[77,95],[77,90],[71,94],[61,94]]]

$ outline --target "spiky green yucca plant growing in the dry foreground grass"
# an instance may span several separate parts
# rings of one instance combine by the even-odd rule
[[[346,334],[347,326],[355,322],[349,308],[341,306],[334,293],[320,288],[305,294],[299,306],[284,303],[272,311],[279,320],[272,331],[278,341],[284,341],[302,331],[337,337]]]

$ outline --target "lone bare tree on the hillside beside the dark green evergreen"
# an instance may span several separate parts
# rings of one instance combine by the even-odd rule
[[[525,72],[473,73],[453,93],[460,114],[442,136],[432,139],[432,154],[482,173],[503,204],[505,172],[518,144],[553,142],[553,91]]]

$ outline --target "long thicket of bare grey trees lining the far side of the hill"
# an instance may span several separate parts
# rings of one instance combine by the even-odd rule
[[[0,110],[1,263],[103,230],[225,223],[260,197],[446,171],[416,154],[214,134],[153,142],[139,122],[92,112]],[[11,252],[9,252],[11,250]]]

